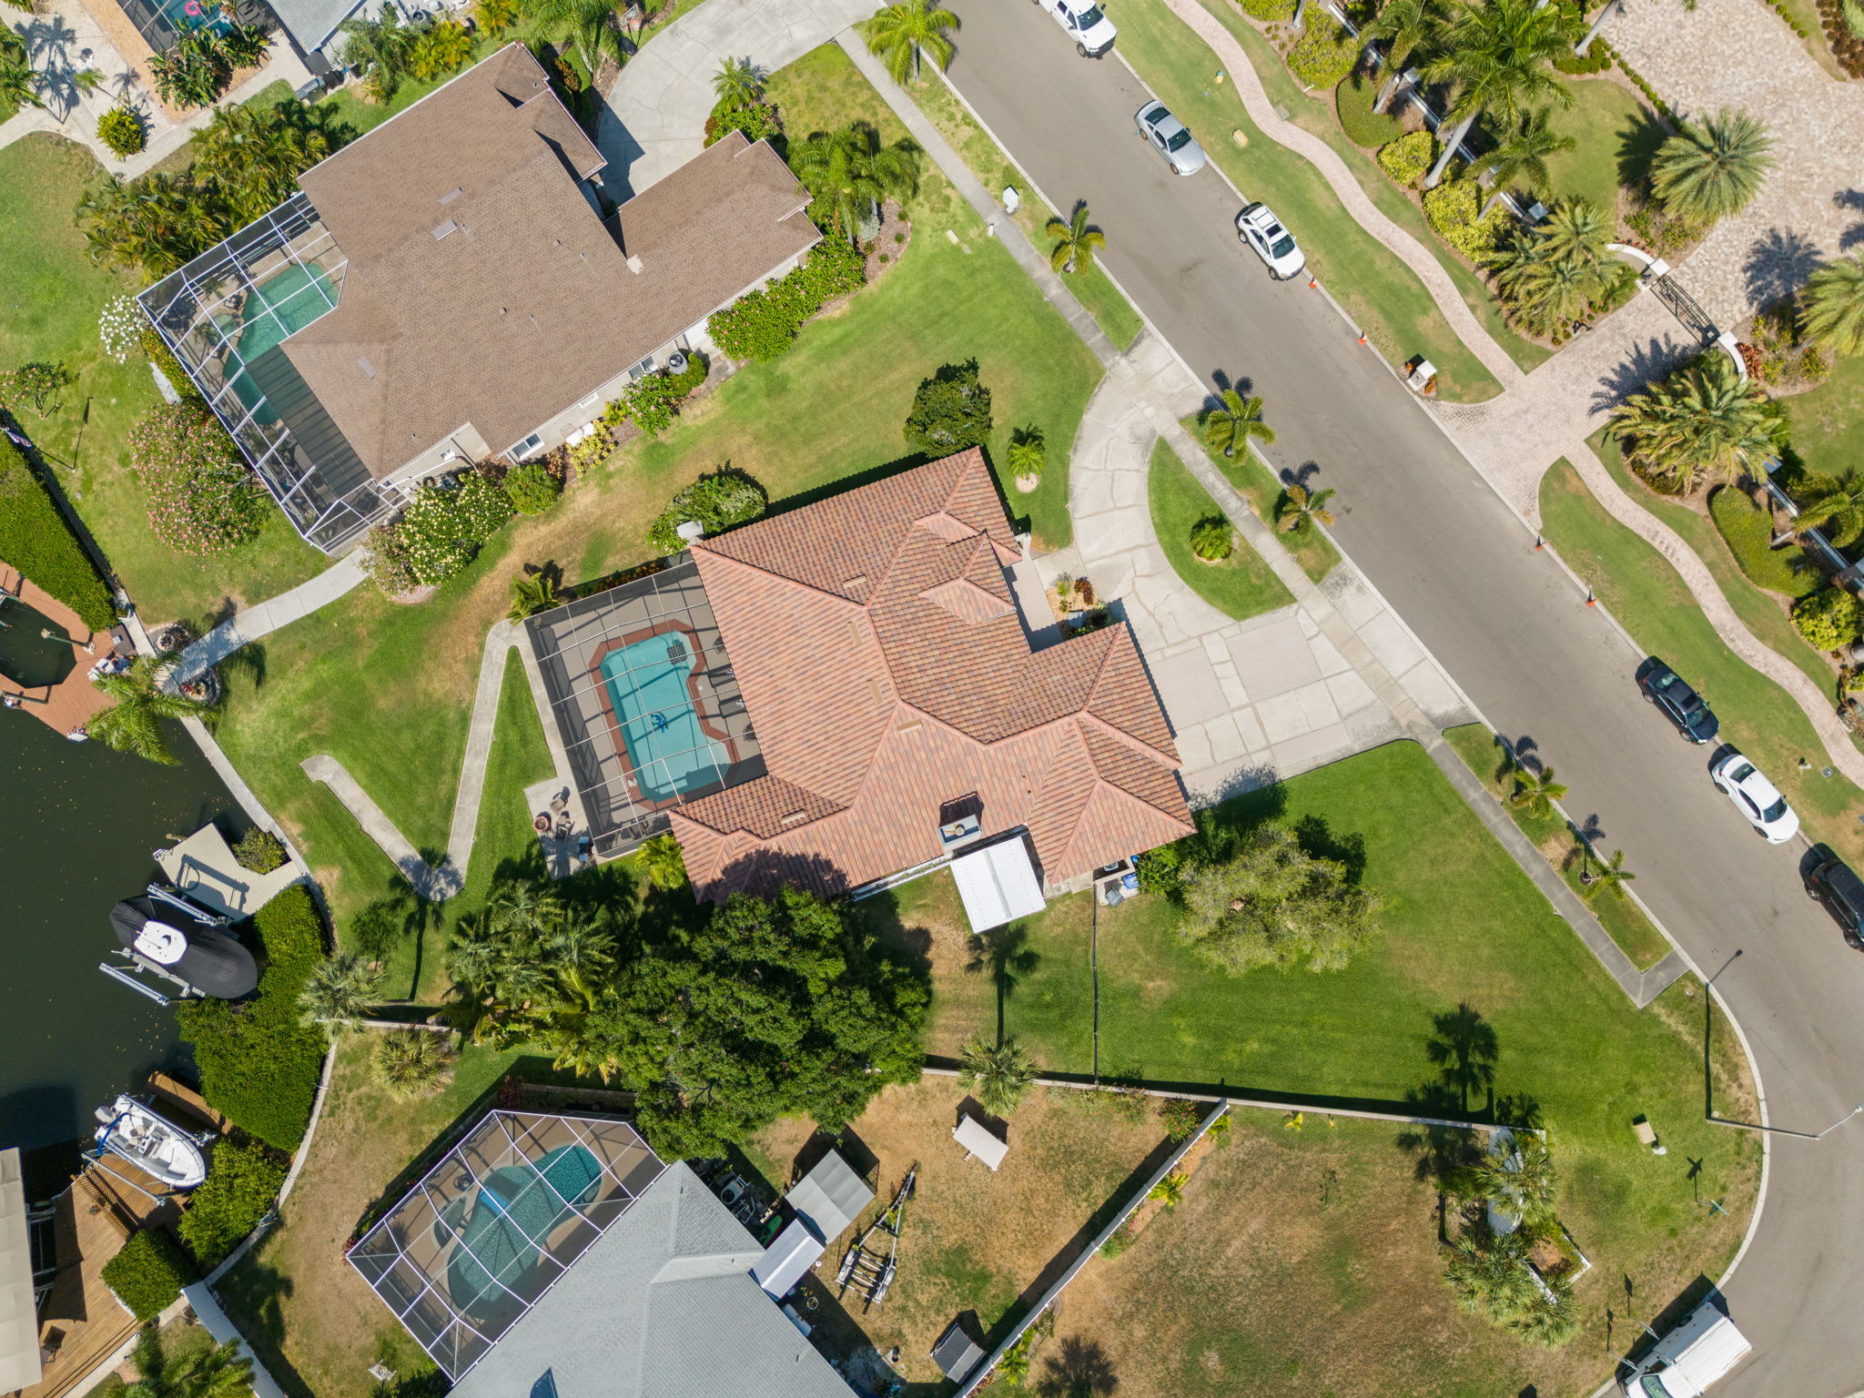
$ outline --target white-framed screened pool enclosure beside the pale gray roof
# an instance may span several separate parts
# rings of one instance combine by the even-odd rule
[[[349,1260],[457,1383],[664,1169],[626,1122],[494,1109]]]

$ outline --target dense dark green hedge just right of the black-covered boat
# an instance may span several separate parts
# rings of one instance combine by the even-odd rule
[[[298,1020],[298,992],[324,958],[324,925],[304,887],[291,887],[254,917],[265,973],[254,999],[175,1007],[194,1044],[201,1096],[248,1135],[296,1150],[311,1120],[324,1036]]]

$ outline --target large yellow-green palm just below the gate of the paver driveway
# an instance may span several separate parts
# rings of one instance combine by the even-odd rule
[[[1719,350],[1633,393],[1612,412],[1612,427],[1633,460],[1676,494],[1711,479],[1758,477],[1786,432],[1780,406]]]

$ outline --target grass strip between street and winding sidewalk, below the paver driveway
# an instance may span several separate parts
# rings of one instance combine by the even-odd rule
[[[1857,816],[1864,813],[1864,792],[1842,775],[1819,775],[1825,747],[1791,695],[1722,645],[1676,570],[1612,520],[1568,462],[1556,462],[1542,477],[1540,511],[1547,542],[1592,585],[1638,645],[1661,656],[1709,701],[1722,721],[1722,736],[1780,787],[1808,833],[1847,857],[1857,856]],[[1691,518],[1709,528],[1707,520]],[[1713,529],[1711,541],[1720,548]],[[1732,561],[1724,567],[1734,570]],[[1747,582],[1739,585],[1754,591]],[[1726,580],[1722,589],[1734,598]],[[1767,600],[1767,606],[1773,602]],[[1810,772],[1799,770],[1801,757],[1812,762]]]

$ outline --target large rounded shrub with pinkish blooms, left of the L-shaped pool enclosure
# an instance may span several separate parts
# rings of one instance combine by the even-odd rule
[[[265,528],[265,490],[199,401],[145,412],[129,434],[149,528],[181,554],[227,554]]]

